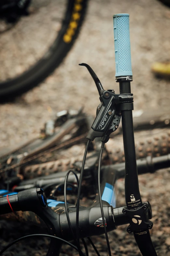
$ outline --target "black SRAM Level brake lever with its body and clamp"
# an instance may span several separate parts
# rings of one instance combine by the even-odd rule
[[[133,110],[133,94],[115,94],[114,90],[104,90],[92,68],[86,63],[79,65],[88,69],[96,84],[101,101],[87,138],[93,141],[95,138],[101,137],[102,142],[106,143],[109,140],[109,135],[119,127],[121,110]]]

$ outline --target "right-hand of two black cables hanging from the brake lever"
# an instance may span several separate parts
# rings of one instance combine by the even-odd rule
[[[109,256],[111,256],[110,244],[109,244],[106,225],[105,225],[105,216],[104,216],[104,212],[103,212],[101,188],[100,188],[100,166],[101,166],[101,160],[102,160],[102,153],[103,153],[104,145],[105,145],[105,143],[102,142],[101,150],[100,150],[100,157],[99,157],[99,166],[98,166],[98,188],[99,188],[100,208],[101,208],[101,213],[102,213],[103,227],[104,227],[105,235],[106,235],[107,248],[108,248]]]

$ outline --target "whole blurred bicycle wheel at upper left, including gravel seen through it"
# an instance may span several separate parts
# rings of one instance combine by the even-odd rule
[[[28,91],[60,65],[78,36],[88,0],[38,1],[31,2],[28,16],[1,29],[0,99]]]

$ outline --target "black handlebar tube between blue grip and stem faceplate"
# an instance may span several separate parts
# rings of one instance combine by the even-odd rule
[[[130,82],[120,82],[119,86],[121,94],[131,93]],[[142,205],[142,199],[139,192],[132,110],[122,111],[121,116],[125,154],[125,200],[127,208],[133,210]]]

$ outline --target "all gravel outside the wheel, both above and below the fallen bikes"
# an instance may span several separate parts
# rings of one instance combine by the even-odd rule
[[[97,90],[87,69],[78,66],[78,63],[87,62],[96,72],[104,88],[113,88],[118,92],[118,84],[114,81],[114,13],[130,14],[134,75],[132,93],[135,98],[135,110],[151,108],[154,111],[156,107],[170,107],[169,82],[154,78],[150,72],[150,66],[154,61],[168,60],[170,56],[170,9],[156,0],[91,0],[81,34],[63,64],[34,90],[15,99],[14,102],[0,106],[1,149],[38,136],[40,128],[56,111],[78,109],[84,105],[87,113],[95,114],[99,104]],[[139,178],[142,198],[144,201],[149,200],[152,205],[153,243],[158,255],[167,256],[170,255],[169,178],[168,170]],[[118,203],[123,205],[123,180],[118,182],[118,187]],[[16,233],[13,226],[9,227],[6,222],[1,223],[3,246],[14,237],[29,232],[25,230],[26,227],[22,229],[24,233],[21,232],[21,227],[17,229]],[[109,235],[113,255],[140,255],[132,235],[125,230],[126,227],[119,227]],[[104,236],[102,239],[94,238],[94,241],[101,255],[108,255]],[[4,255],[45,255],[42,251],[46,247],[45,244],[48,244],[47,241],[44,245],[42,240],[37,244],[32,242],[32,249],[25,253],[25,248],[28,250],[27,244],[28,242],[23,242],[23,247],[20,244],[17,248],[21,250],[18,249],[17,253],[10,251]],[[75,252],[72,253],[70,248],[64,250],[66,253],[61,255],[77,255]],[[94,253],[91,252],[90,255]]]

